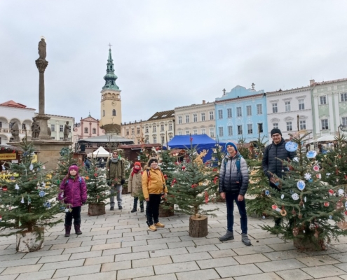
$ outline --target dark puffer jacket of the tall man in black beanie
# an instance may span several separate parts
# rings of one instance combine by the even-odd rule
[[[287,160],[288,158],[292,160],[295,155],[297,155],[296,152],[288,152],[285,149],[285,140],[282,139],[277,145],[272,143],[265,148],[261,167],[268,178],[272,176],[271,173],[282,178],[288,169],[283,166],[280,160]]]

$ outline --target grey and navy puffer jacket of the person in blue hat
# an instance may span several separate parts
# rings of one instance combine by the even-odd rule
[[[233,193],[245,195],[248,188],[248,168],[247,162],[240,157],[240,175],[241,180],[238,180],[238,169],[236,160],[240,153],[236,153],[233,158],[226,155],[222,160],[221,169],[219,172],[219,193]],[[224,164],[227,158],[226,166]]]

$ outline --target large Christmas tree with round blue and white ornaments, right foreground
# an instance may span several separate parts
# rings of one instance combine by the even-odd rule
[[[345,191],[322,181],[320,162],[315,159],[315,151],[303,151],[301,144],[309,133],[297,135],[287,142],[287,151],[296,151],[292,162],[283,161],[290,167],[283,180],[280,192],[271,193],[272,214],[283,218],[279,226],[264,226],[274,234],[293,239],[294,246],[301,250],[324,250],[331,239],[347,235],[344,221]]]

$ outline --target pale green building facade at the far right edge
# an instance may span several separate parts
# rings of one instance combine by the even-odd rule
[[[340,125],[347,129],[347,78],[321,83],[310,80],[310,86],[314,138],[335,134]]]

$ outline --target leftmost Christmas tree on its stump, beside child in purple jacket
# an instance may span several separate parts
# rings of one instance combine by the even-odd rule
[[[9,181],[3,186],[0,207],[1,236],[17,234],[17,251],[36,251],[43,246],[44,228],[62,222],[55,214],[60,206],[55,202],[58,189],[41,162],[33,162],[34,148],[23,141],[22,162],[10,164]]]

